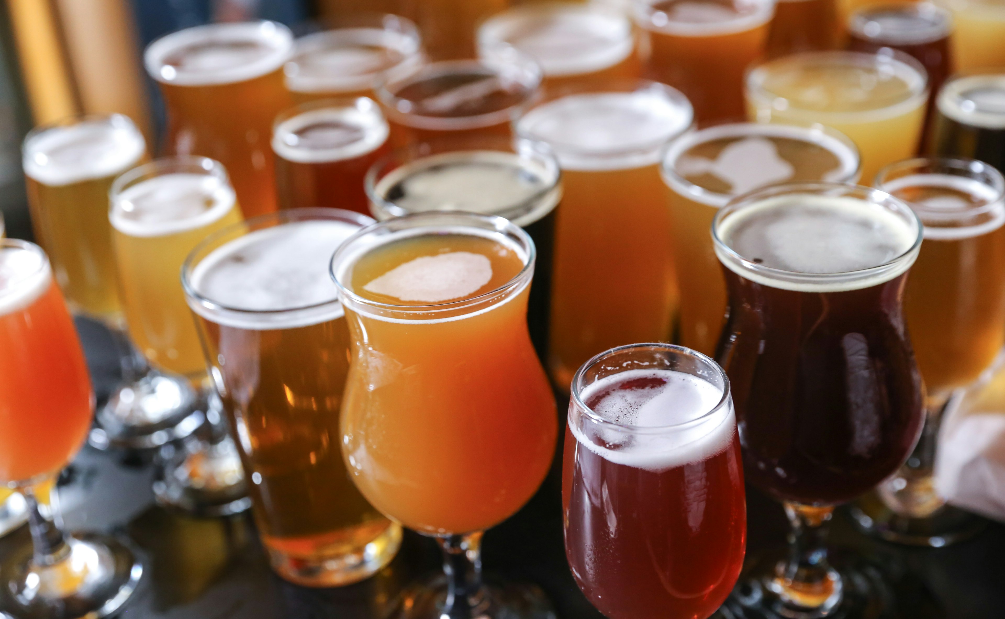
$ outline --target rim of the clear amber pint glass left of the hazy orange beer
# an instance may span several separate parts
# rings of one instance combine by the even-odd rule
[[[206,294],[197,290],[195,286],[192,284],[192,274],[195,272],[195,269],[199,266],[202,260],[211,255],[217,249],[226,247],[233,241],[243,238],[248,234],[254,233],[258,230],[277,228],[282,225],[286,225],[289,223],[296,223],[300,221],[322,221],[322,220],[325,221],[335,220],[335,221],[345,221],[347,223],[356,223],[359,224],[360,230],[373,224],[373,218],[367,217],[362,213],[357,213],[356,211],[348,211],[346,209],[326,208],[321,206],[279,210],[271,213],[265,213],[262,215],[256,215],[255,217],[251,217],[249,219],[244,219],[236,223],[229,224],[223,228],[220,228],[219,230],[216,230],[206,238],[199,241],[199,244],[193,247],[192,251],[190,251],[188,255],[185,256],[185,261],[182,262],[182,268],[181,268],[182,290],[184,290],[185,296],[189,299],[198,302],[200,305],[208,307],[210,310],[221,310],[224,312],[239,314],[243,316],[281,316],[283,314],[298,313],[307,310],[319,310],[326,307],[328,305],[341,303],[342,298],[341,295],[338,294],[338,288],[337,288],[336,290],[337,293],[335,298],[326,299],[316,303],[310,303],[307,305],[296,305],[293,307],[283,307],[281,310],[248,310],[247,307],[235,307],[227,303],[214,300],[209,296],[207,296]],[[265,224],[270,221],[277,221],[278,223],[275,226],[267,226],[267,227],[262,226],[261,228],[257,229],[255,228],[256,225]],[[240,236],[237,236],[235,238],[232,238],[231,240],[228,240],[220,244],[219,246],[213,248],[212,250],[206,251],[213,243],[219,241],[220,238],[229,236],[233,234],[235,231],[246,231],[246,233],[241,234]],[[357,230],[356,232],[358,231],[359,230]],[[353,232],[353,235],[346,237],[346,239],[343,240],[343,243],[352,238],[352,236],[354,236],[356,232]],[[205,255],[200,256],[199,254],[203,253],[204,251]]]

